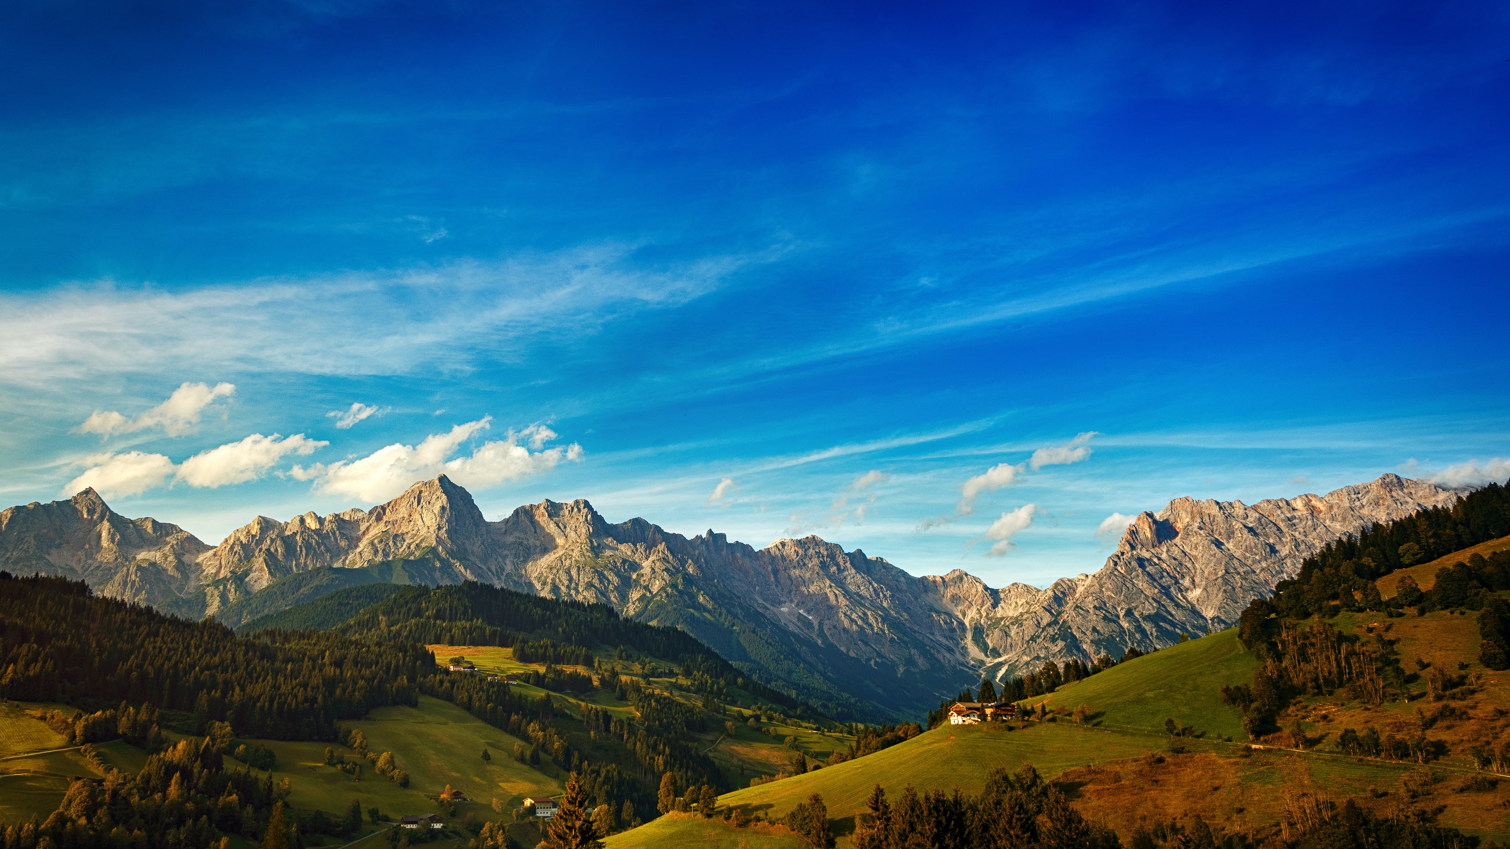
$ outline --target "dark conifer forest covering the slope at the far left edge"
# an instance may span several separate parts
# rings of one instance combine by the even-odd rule
[[[85,712],[151,704],[230,721],[243,737],[335,740],[343,719],[412,705],[435,671],[424,647],[332,633],[246,639],[163,616],[60,577],[0,571],[0,696]]]

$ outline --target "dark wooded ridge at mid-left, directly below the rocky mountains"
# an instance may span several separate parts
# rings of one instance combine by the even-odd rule
[[[621,618],[607,604],[563,601],[467,582],[406,586],[335,625],[334,633],[376,642],[513,647],[539,639],[595,648],[622,647],[676,663],[788,709],[811,710],[793,693],[755,681],[698,638],[672,627]]]

